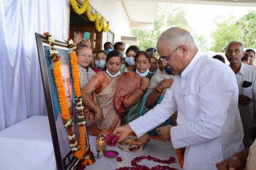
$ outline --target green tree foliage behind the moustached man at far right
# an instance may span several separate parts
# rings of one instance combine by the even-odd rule
[[[250,11],[237,21],[233,16],[217,23],[217,29],[212,33],[214,43],[211,50],[225,52],[230,41],[241,41],[245,48],[256,48],[256,12]]]

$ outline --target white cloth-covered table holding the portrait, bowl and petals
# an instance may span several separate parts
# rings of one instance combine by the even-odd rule
[[[89,141],[91,150],[96,153],[96,137],[89,136]],[[130,161],[137,156],[150,155],[159,159],[168,159],[172,156],[176,158],[177,163],[169,166],[182,169],[170,141],[151,139],[145,149],[137,153],[122,151],[117,146],[107,146],[107,150],[117,151],[122,159],[124,156],[128,157],[127,166],[131,166]],[[93,165],[87,166],[86,170],[117,169],[119,167],[116,162],[116,159],[102,156],[101,159],[96,159]],[[149,168],[158,164],[167,165],[149,160],[142,160],[139,164]],[[0,132],[0,169],[57,169],[47,116],[30,117]]]

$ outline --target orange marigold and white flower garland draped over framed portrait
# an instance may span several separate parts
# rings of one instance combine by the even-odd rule
[[[61,111],[61,117],[63,119],[64,127],[68,131],[68,139],[70,141],[70,147],[73,151],[73,155],[77,157],[78,159],[86,159],[84,160],[83,165],[89,165],[93,164],[95,162],[95,158],[93,155],[93,152],[89,151],[89,155],[86,155],[85,153],[85,117],[83,113],[83,105],[82,105],[82,94],[80,89],[80,81],[79,81],[79,72],[78,72],[78,66],[77,66],[77,57],[74,50],[76,49],[76,46],[73,44],[73,41],[71,39],[68,40],[69,43],[69,49],[73,50],[71,52],[71,67],[72,67],[72,76],[74,80],[74,91],[75,91],[75,103],[76,103],[76,109],[77,109],[77,117],[79,118],[77,124],[79,125],[79,143],[75,140],[75,133],[72,130],[72,119],[69,115],[69,109],[68,109],[68,102],[66,101],[66,95],[65,95],[65,87],[62,82],[61,78],[61,71],[60,71],[60,62],[58,55],[58,51],[54,48],[54,41],[55,37],[50,35],[49,33],[44,33],[44,35],[47,36],[48,41],[52,48],[49,50],[49,53],[51,54],[51,60],[54,62],[54,69],[53,74],[55,78],[55,83],[57,87],[58,92],[58,100],[60,105],[60,111]]]

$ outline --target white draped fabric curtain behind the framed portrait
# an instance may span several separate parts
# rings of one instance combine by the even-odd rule
[[[68,0],[0,0],[0,131],[47,115],[35,32],[67,39]]]

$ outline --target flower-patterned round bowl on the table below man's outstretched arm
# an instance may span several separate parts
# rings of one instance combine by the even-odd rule
[[[141,152],[150,141],[148,133],[137,137],[134,135],[127,136],[124,140],[117,142],[118,148],[127,152]]]

